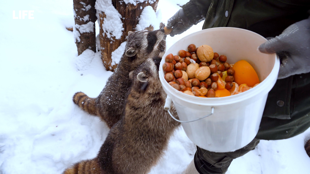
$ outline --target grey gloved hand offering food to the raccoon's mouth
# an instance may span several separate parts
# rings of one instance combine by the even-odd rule
[[[184,31],[191,28],[193,23],[189,22],[189,19],[185,15],[183,9],[181,8],[179,11],[175,13],[167,22],[167,29],[171,29],[170,33],[171,37],[174,37],[176,34],[181,34]]]

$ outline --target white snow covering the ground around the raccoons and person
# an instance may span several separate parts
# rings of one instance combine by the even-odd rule
[[[166,23],[184,4],[160,0],[157,17]],[[55,174],[69,165],[96,156],[109,131],[96,117],[72,102],[77,91],[96,97],[112,74],[100,53],[77,56],[72,0],[0,2],[0,174]],[[12,19],[12,11],[33,10],[34,19]],[[187,32],[167,37],[167,47]],[[96,28],[98,31],[98,28]],[[79,69],[79,70],[78,70]],[[310,129],[286,140],[261,141],[235,159],[227,174],[310,173],[304,150]],[[152,174],[178,174],[195,153],[182,128],[171,137],[165,156]]]

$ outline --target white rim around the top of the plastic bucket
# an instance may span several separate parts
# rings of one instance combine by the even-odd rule
[[[267,39],[265,37],[259,35],[258,33],[252,32],[252,31],[247,30],[247,29],[234,28],[234,27],[217,27],[217,28],[203,29],[203,30],[191,33],[191,34],[181,38],[180,40],[186,39],[188,37],[192,37],[193,35],[205,33],[206,31],[212,31],[212,30],[215,30],[215,31],[219,31],[219,30],[222,30],[222,31],[223,30],[243,30],[245,32],[252,33],[252,34],[256,35],[257,37],[261,37],[261,38],[263,38],[263,40],[267,41]],[[175,44],[177,44],[177,42],[178,41],[176,41],[170,47],[173,47]],[[167,54],[168,53],[166,52],[164,54],[164,56],[166,56]],[[191,102],[191,103],[194,103],[197,105],[205,105],[205,106],[226,105],[226,104],[241,102],[241,101],[247,100],[249,98],[255,97],[257,95],[263,96],[263,95],[269,93],[269,91],[272,89],[272,87],[276,83],[279,68],[280,68],[280,59],[276,53],[274,53],[274,61],[275,61],[274,66],[273,66],[271,72],[256,87],[251,88],[250,90],[247,90],[245,92],[242,92],[242,93],[239,93],[236,95],[226,96],[226,97],[202,98],[202,97],[196,97],[196,96],[191,96],[188,94],[181,93],[178,90],[174,89],[171,85],[168,84],[168,82],[164,78],[164,72],[163,72],[162,68],[159,68],[159,79],[162,83],[163,89],[166,89],[165,91],[166,91],[167,95],[169,95],[171,98],[178,98],[179,100],[186,100],[187,102]],[[162,59],[162,61],[160,63],[160,67],[162,67],[163,63],[165,63],[165,59]],[[263,85],[267,86],[267,87],[265,87],[265,88],[261,87]]]

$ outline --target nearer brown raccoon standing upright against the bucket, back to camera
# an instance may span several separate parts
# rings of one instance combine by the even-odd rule
[[[160,60],[148,59],[133,73],[124,116],[110,129],[97,157],[76,163],[63,174],[150,172],[180,125],[163,109],[166,93],[158,76]]]

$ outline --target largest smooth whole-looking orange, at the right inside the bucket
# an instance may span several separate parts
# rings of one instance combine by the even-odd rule
[[[232,69],[235,70],[233,77],[238,85],[247,84],[248,86],[254,86],[259,83],[256,71],[247,61],[239,60],[232,66]]]

